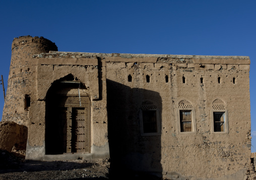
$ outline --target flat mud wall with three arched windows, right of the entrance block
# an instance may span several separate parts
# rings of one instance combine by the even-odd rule
[[[117,166],[125,163],[128,168],[163,172],[167,177],[245,173],[251,146],[248,57],[113,54],[105,61],[110,152],[123,157],[111,156]],[[216,99],[227,110],[227,133],[211,130]],[[145,100],[159,108],[159,136],[141,136],[139,109]],[[179,133],[181,100],[195,109],[193,134]]]

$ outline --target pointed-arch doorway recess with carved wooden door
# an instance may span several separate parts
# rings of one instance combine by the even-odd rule
[[[46,95],[45,153],[86,153],[91,149],[88,89],[73,75],[55,81]]]

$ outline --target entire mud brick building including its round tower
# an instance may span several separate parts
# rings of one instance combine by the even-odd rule
[[[111,158],[165,177],[240,179],[250,158],[249,57],[58,52],[19,37],[3,121],[26,159]]]

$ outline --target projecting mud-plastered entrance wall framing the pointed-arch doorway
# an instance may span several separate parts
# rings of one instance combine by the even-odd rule
[[[60,59],[61,58],[61,59]],[[62,160],[74,159],[74,155],[45,155],[45,117],[46,99],[49,88],[55,81],[73,75],[82,82],[86,90],[81,90],[90,99],[91,150],[88,154],[75,154],[83,158],[107,158],[109,147],[107,138],[106,109],[106,68],[104,61],[95,57],[70,58],[68,53],[42,53],[33,56],[33,64],[37,69],[36,99],[30,107],[29,135],[27,144],[27,159]],[[73,92],[68,92],[73,93]],[[75,89],[75,94],[78,93]],[[77,94],[78,96],[78,94]],[[42,149],[41,153],[36,150]]]

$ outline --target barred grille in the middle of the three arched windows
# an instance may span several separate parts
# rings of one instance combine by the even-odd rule
[[[192,131],[192,117],[191,111],[179,111],[180,117],[180,131],[191,132]]]

